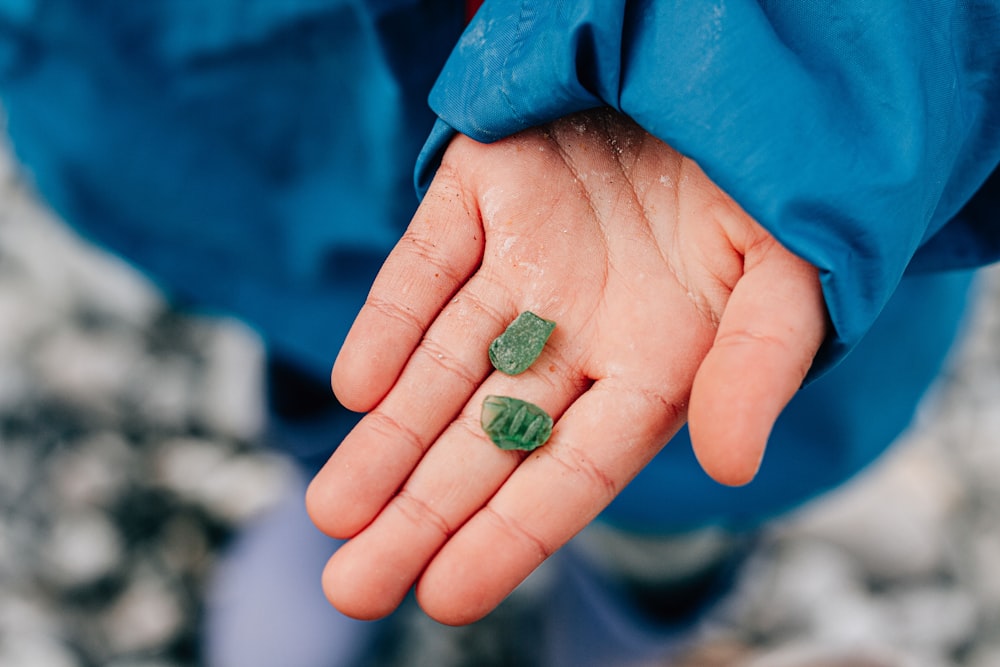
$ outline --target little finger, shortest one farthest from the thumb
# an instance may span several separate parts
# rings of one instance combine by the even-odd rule
[[[385,396],[482,253],[478,209],[442,168],[379,271],[334,363],[331,384],[344,406],[366,412]]]

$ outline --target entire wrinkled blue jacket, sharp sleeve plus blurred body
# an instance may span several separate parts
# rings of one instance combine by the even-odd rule
[[[461,5],[0,0],[8,131],[63,218],[322,381],[418,154],[426,188],[455,131],[620,109],[820,267],[834,331],[754,483],[682,433],[605,518],[748,526],[871,462],[958,329],[941,272],[1000,254],[997,3],[487,0],[464,34]]]

